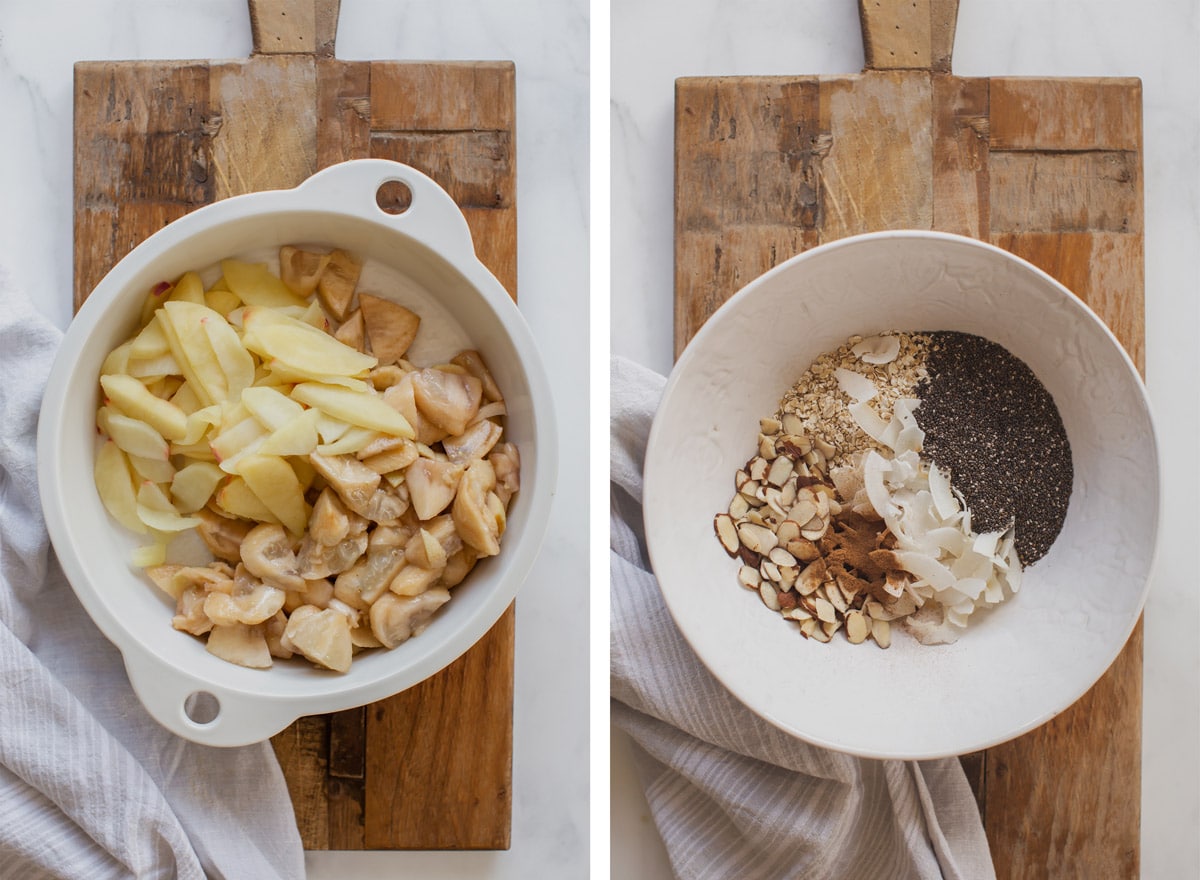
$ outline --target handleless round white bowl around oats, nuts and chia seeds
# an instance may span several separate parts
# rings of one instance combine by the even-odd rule
[[[960,330],[1024,360],[1054,396],[1074,457],[1067,520],[1020,593],[954,645],[808,641],[737,583],[713,534],[758,419],[853,334]],[[818,746],[872,758],[964,754],[1062,712],[1108,669],[1148,588],[1158,454],[1136,370],[1108,328],[1045,273],[929,232],[844,239],[726,303],[667,383],[646,459],[654,571],[676,623],[749,708]],[[893,630],[896,631],[896,628]]]

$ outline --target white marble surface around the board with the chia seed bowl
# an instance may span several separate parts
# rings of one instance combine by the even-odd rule
[[[673,84],[682,76],[857,73],[852,0],[612,1],[611,345],[672,361]],[[1140,77],[1145,107],[1146,375],[1164,465],[1145,612],[1142,876],[1200,876],[1200,622],[1194,562],[1200,255],[1200,28],[1194,0],[962,0],[954,72]],[[612,740],[612,876],[671,876],[628,741]]]

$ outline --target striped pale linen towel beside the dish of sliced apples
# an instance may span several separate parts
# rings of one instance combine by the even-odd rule
[[[0,878],[302,878],[270,744],[154,722],[54,558],[35,439],[60,337],[0,273]]]

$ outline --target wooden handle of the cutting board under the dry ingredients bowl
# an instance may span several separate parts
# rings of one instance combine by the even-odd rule
[[[959,0],[858,0],[869,71],[950,72]]]

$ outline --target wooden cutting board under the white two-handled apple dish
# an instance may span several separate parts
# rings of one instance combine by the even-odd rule
[[[515,297],[512,65],[338,61],[337,0],[250,0],[250,12],[248,59],[76,65],[76,306],[190,210],[361,157],[437,180]],[[506,849],[512,659],[510,606],[425,683],[275,736],[305,846]]]

